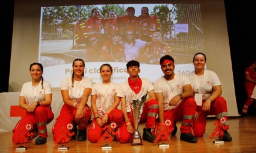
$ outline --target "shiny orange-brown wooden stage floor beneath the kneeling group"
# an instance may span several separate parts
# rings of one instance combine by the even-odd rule
[[[256,152],[256,117],[229,117],[229,133],[232,135],[233,140],[230,142],[224,142],[222,144],[214,144],[213,140],[216,140],[216,136],[211,140],[210,135],[215,129],[215,119],[207,119],[207,129],[203,137],[198,138],[197,143],[187,143],[180,141],[180,122],[177,123],[178,131],[175,136],[171,136],[167,144],[169,148],[159,148],[160,143],[149,143],[143,141],[141,146],[131,146],[130,143],[121,144],[116,141],[108,143],[112,146],[112,149],[102,149],[104,144],[90,143],[87,141],[72,140],[69,143],[65,143],[66,147],[69,147],[66,151],[60,151],[58,148],[61,144],[54,144],[52,140],[52,132],[48,132],[48,141],[46,144],[35,145],[35,138],[30,140],[29,143],[23,144],[27,147],[26,151],[16,151],[20,145],[12,144],[12,132],[0,132],[0,150],[1,152]],[[139,127],[140,134],[143,134],[144,124]]]

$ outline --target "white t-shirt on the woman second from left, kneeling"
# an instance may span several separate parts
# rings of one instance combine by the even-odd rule
[[[85,88],[92,88],[93,81],[90,78],[83,77],[81,81],[74,80],[74,87],[72,87],[72,78],[66,77],[62,80],[61,90],[68,90],[70,100],[80,103],[84,95]]]

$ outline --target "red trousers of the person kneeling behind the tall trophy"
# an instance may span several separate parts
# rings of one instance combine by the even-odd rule
[[[140,118],[140,124],[146,123],[147,128],[154,128],[155,125],[155,118],[158,114],[158,101],[157,100],[149,100],[145,106],[143,107],[143,112]],[[132,114],[129,113],[128,117],[130,119],[131,124],[134,126],[134,121]],[[119,143],[129,143],[131,140],[132,135],[127,131],[126,123],[119,127],[118,131],[116,132],[116,140]]]

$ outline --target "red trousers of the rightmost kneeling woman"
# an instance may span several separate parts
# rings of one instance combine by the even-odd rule
[[[202,101],[202,106],[205,101]],[[197,106],[196,111],[199,113],[198,121],[193,122],[193,132],[195,137],[202,137],[205,133],[205,126],[208,115],[216,115],[216,120],[222,122],[222,131],[229,129],[229,124],[227,123],[227,104],[223,97],[218,97],[212,101],[209,112],[204,112],[202,106]]]

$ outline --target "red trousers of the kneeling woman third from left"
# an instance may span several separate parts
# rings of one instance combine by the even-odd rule
[[[123,112],[120,109],[113,109],[110,114],[108,114],[107,124],[112,127],[113,131],[116,131],[121,124],[123,123]],[[87,137],[91,143],[98,142],[99,138],[101,138],[103,128],[107,125],[104,124],[102,126],[98,126],[97,121],[93,118],[93,122],[90,124]]]

